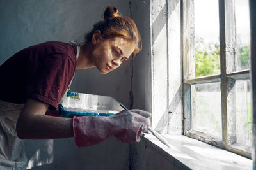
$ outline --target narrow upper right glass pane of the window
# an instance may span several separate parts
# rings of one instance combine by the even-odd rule
[[[236,70],[249,68],[250,18],[248,0],[235,0]]]

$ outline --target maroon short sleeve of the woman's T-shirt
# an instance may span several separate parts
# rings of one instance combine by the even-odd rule
[[[28,66],[26,98],[38,99],[56,109],[61,96],[74,76],[74,60],[63,53],[33,60]],[[36,66],[35,66],[36,65]]]

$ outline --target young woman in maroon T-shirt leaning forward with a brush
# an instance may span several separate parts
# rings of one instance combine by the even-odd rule
[[[86,35],[83,45],[49,41],[16,53],[0,66],[0,169],[24,169],[22,139],[56,139],[74,136],[78,147],[95,145],[114,136],[140,141],[150,113],[121,111],[111,117],[51,117],[65,95],[76,69],[97,67],[113,71],[141,50],[134,21],[113,6]]]

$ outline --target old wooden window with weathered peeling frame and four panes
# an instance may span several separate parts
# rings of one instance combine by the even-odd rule
[[[182,1],[184,134],[250,158],[246,0]]]

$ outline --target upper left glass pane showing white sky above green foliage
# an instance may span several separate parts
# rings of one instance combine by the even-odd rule
[[[220,74],[218,0],[195,0],[195,77]]]

